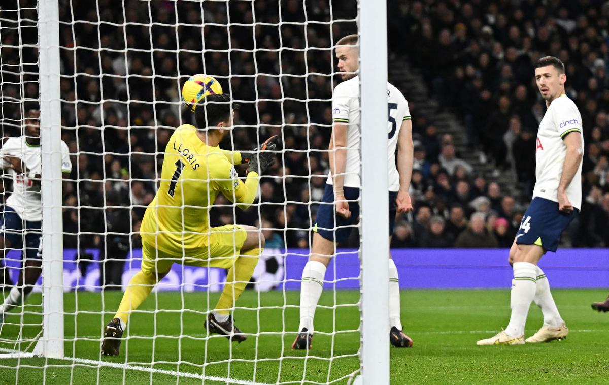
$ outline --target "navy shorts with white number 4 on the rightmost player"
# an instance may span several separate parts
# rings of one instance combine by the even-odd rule
[[[556,252],[561,233],[577,213],[577,208],[569,214],[561,213],[558,202],[541,197],[533,198],[516,233],[516,244],[538,245],[544,250]]]

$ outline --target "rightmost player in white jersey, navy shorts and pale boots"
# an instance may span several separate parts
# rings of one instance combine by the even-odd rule
[[[537,133],[533,200],[510,249],[509,262],[514,271],[512,316],[505,331],[477,345],[523,345],[563,339],[569,334],[547,277],[537,264],[548,250],[556,251],[560,234],[581,207],[582,116],[565,94],[565,65],[558,58],[541,58],[535,65],[535,79],[547,110]],[[543,326],[525,340],[524,325],[533,301],[541,308]]]

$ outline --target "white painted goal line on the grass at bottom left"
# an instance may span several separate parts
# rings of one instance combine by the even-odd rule
[[[0,351],[9,353],[7,355],[0,355],[0,358],[36,358],[42,356],[35,356],[32,353],[21,353],[20,351],[0,348]],[[265,383],[255,383],[253,381],[247,380],[236,380],[234,378],[223,378],[217,376],[204,376],[197,373],[189,373],[189,372],[176,372],[175,370],[166,370],[166,369],[155,369],[145,366],[138,365],[129,365],[129,364],[119,364],[118,362],[107,362],[107,361],[97,361],[95,359],[87,359],[87,358],[72,358],[72,357],[60,357],[60,358],[49,358],[49,359],[60,359],[62,361],[71,361],[74,364],[85,364],[96,367],[111,367],[114,369],[124,369],[124,370],[135,370],[136,372],[146,372],[146,373],[157,373],[157,374],[165,374],[174,377],[185,377],[185,378],[194,378],[196,380],[205,380],[205,381],[217,381],[220,383],[229,383],[235,385],[269,385]]]

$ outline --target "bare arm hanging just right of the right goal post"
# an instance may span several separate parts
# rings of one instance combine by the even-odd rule
[[[412,120],[402,122],[400,136],[398,136],[398,173],[400,174],[400,191],[396,199],[398,213],[412,210],[412,202],[408,190],[410,177],[412,177],[412,161],[414,158],[414,145],[412,144]]]

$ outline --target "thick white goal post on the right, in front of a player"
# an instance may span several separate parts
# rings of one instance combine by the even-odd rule
[[[387,176],[387,3],[360,0],[362,143],[362,376],[389,384],[389,186]]]

